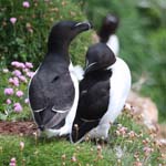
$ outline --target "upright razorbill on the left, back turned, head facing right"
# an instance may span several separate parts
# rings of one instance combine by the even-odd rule
[[[60,21],[53,25],[48,53],[29,85],[34,121],[48,137],[62,136],[72,129],[79,102],[79,81],[70,61],[69,46],[89,22]]]

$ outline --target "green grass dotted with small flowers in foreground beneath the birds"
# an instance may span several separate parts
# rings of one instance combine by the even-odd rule
[[[0,163],[7,166],[15,157],[18,166],[128,166],[138,160],[143,165],[164,164],[160,148],[154,144],[153,135],[135,121],[128,112],[124,112],[117,122],[127,127],[126,133],[117,135],[116,131],[121,125],[113,125],[108,143],[101,142],[100,146],[98,141],[73,145],[64,138],[0,135]],[[128,136],[131,131],[136,134],[134,137]],[[148,143],[143,144],[144,141]],[[20,142],[24,143],[23,149],[20,148]],[[153,152],[145,155],[145,147]]]

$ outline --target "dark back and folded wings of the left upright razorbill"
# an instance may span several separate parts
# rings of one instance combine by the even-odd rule
[[[29,89],[30,104],[38,125],[59,128],[74,101],[74,86],[66,71],[63,74],[39,72]]]

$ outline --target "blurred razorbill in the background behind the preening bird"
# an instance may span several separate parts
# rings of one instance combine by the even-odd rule
[[[115,55],[118,55],[120,42],[118,38],[115,34],[120,24],[120,19],[117,15],[108,13],[102,21],[102,25],[97,35],[100,41],[106,43]]]

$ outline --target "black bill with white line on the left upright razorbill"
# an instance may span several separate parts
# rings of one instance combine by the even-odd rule
[[[93,25],[90,22],[77,22],[73,27],[73,30],[77,30],[79,32],[82,32],[82,31],[87,31],[87,30],[90,30],[92,28],[93,28]]]

